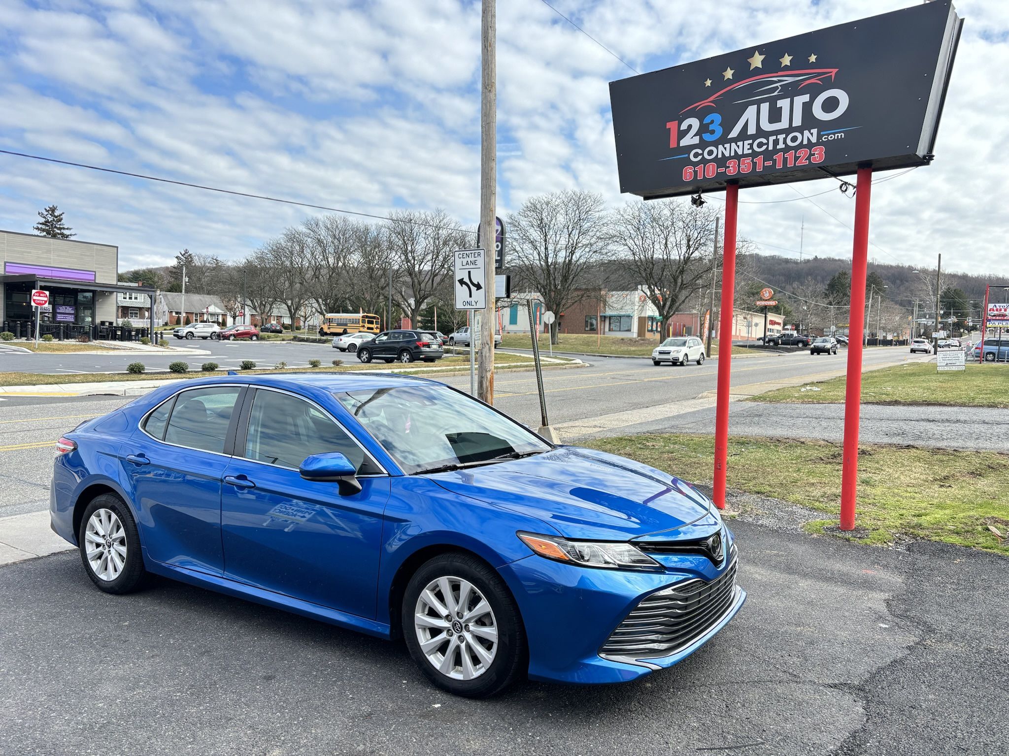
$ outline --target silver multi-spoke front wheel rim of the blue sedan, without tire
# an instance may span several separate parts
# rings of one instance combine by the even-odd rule
[[[427,585],[414,609],[414,629],[421,652],[452,679],[479,677],[497,654],[493,610],[479,590],[462,578],[446,576]]]

